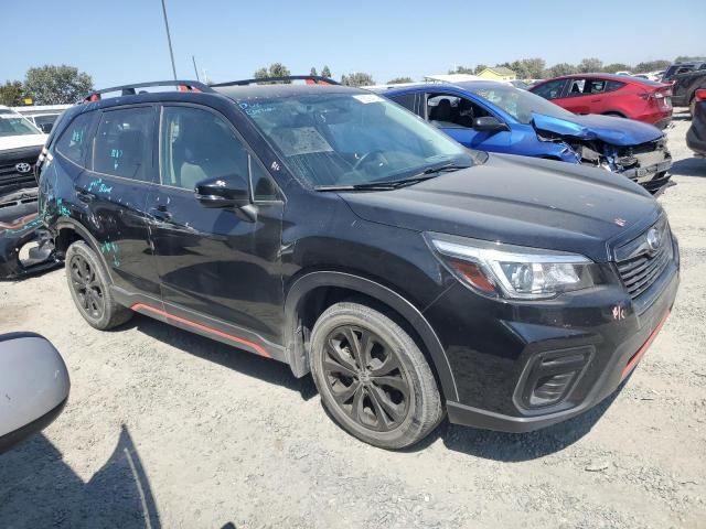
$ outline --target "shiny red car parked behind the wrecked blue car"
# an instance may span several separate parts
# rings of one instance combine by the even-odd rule
[[[672,120],[672,87],[639,77],[575,74],[544,80],[530,89],[575,114],[637,119],[663,129]]]

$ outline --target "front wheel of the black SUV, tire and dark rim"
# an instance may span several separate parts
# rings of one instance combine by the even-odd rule
[[[324,408],[374,446],[415,444],[443,417],[425,355],[392,317],[367,305],[343,302],[324,311],[309,361]]]

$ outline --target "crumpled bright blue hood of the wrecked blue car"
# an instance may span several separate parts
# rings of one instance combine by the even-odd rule
[[[652,125],[614,116],[590,114],[553,118],[532,112],[532,117],[536,130],[582,140],[601,140],[619,147],[638,145],[662,138],[662,131]]]

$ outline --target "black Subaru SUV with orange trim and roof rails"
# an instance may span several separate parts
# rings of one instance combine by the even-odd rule
[[[311,371],[383,447],[445,412],[523,432],[611,393],[676,294],[657,202],[318,80],[136,85],[66,111],[40,209],[86,321],[140,312]]]

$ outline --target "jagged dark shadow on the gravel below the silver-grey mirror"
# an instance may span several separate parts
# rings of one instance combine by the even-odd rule
[[[161,527],[150,484],[126,427],[87,483],[42,434],[0,455],[0,520],[8,529]]]

